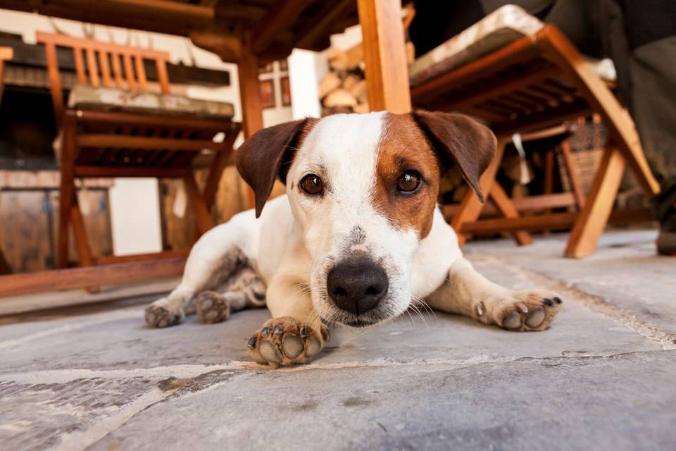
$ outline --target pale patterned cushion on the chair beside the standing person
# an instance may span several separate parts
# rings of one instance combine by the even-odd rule
[[[517,39],[534,35],[542,27],[544,23],[519,6],[502,6],[415,60],[408,68],[411,85],[420,85],[437,75],[464,66]],[[614,80],[615,69],[612,61],[590,62],[601,78]]]

